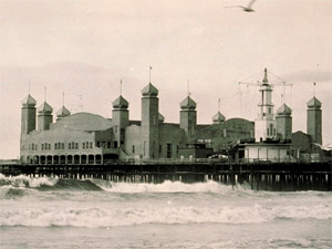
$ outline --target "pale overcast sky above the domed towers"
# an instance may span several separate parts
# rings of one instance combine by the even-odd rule
[[[307,102],[322,102],[323,144],[332,142],[332,1],[257,0],[0,0],[0,158],[19,155],[21,100],[44,100],[56,112],[112,117],[123,95],[141,120],[141,90],[159,89],[165,122],[178,123],[179,103],[197,102],[198,123],[257,116],[258,87],[239,85],[271,72],[274,111],[281,94],[293,110],[293,132],[307,131]]]

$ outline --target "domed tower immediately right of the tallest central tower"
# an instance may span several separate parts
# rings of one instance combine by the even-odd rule
[[[188,143],[195,142],[197,123],[196,103],[188,95],[180,103],[180,128],[185,129]]]

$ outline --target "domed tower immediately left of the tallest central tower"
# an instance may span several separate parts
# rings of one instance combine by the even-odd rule
[[[112,122],[114,125],[114,147],[117,148],[124,144],[125,127],[128,126],[129,112],[128,102],[120,95],[113,102]]]

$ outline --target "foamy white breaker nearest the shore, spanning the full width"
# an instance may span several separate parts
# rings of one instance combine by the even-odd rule
[[[72,226],[72,227],[118,227],[144,224],[260,224],[281,218],[331,219],[330,205],[278,206],[261,205],[246,207],[121,207],[121,208],[63,208],[55,207],[1,210],[0,226]]]

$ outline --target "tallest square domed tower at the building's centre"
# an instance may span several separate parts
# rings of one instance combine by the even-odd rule
[[[143,157],[158,157],[158,133],[159,133],[159,98],[158,90],[148,83],[142,90],[142,136]]]

